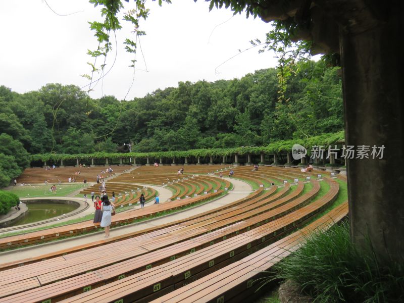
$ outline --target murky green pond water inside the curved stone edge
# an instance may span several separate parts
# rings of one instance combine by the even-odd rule
[[[28,212],[21,219],[12,223],[9,226],[17,226],[22,224],[33,223],[41,220],[46,220],[53,217],[62,216],[70,213],[78,208],[76,203],[28,203]]]

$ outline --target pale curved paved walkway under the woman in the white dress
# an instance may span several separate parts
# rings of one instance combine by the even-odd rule
[[[224,179],[227,179],[227,178],[224,178]],[[229,193],[225,196],[222,196],[222,197],[220,197],[214,201],[211,201],[209,203],[206,203],[204,205],[190,208],[190,209],[184,210],[182,212],[174,213],[172,215],[159,217],[156,219],[151,219],[151,220],[148,220],[145,222],[139,222],[136,224],[131,224],[131,225],[114,228],[111,230],[111,237],[127,234],[127,233],[138,231],[138,230],[143,230],[148,227],[157,226],[157,225],[164,224],[167,222],[176,221],[176,220],[184,219],[184,218],[187,218],[187,217],[199,214],[199,213],[203,213],[205,211],[215,209],[222,205],[229,204],[237,199],[246,197],[251,192],[251,186],[248,183],[237,180],[237,179],[228,179],[228,180],[233,183],[234,187],[233,187],[233,190],[229,191]],[[170,194],[171,194],[171,192],[170,192]],[[49,252],[55,252],[55,251],[69,248],[69,247],[74,247],[77,245],[90,243],[90,242],[94,242],[94,241],[98,241],[98,240],[102,240],[102,239],[104,239],[104,231],[91,233],[88,235],[77,236],[77,237],[73,237],[70,239],[68,238],[65,240],[60,240],[58,242],[45,243],[45,244],[40,244],[40,245],[27,247],[27,248],[5,251],[0,254],[0,260],[1,260],[0,262],[8,263],[8,262],[12,262],[12,261],[21,260],[21,259],[37,257],[37,256],[41,256],[43,254],[48,254]]]

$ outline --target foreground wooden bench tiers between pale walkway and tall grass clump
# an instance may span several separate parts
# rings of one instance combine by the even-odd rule
[[[240,169],[239,173],[254,180],[254,175],[250,174],[254,172],[244,170]],[[267,169],[261,171],[260,168],[259,173],[263,171]],[[268,168],[260,178],[262,182],[277,178],[283,183],[284,176],[290,180],[304,178],[306,174],[289,170],[285,174],[285,170]],[[194,185],[193,180],[184,181]],[[262,275],[265,267],[272,266],[274,258],[280,260],[286,256],[285,247],[295,249],[302,241],[299,232],[279,238],[305,224],[335,199],[338,183],[324,178],[330,190],[309,203],[320,189],[319,181],[313,178],[311,182],[313,188],[307,193],[302,193],[302,182],[293,191],[288,183],[268,190],[260,187],[247,199],[144,231],[145,234],[125,235],[119,242],[111,239],[108,245],[95,247],[97,244],[93,244],[84,247],[93,247],[84,251],[78,251],[77,247],[76,252],[70,250],[69,255],[55,254],[49,256],[52,259],[41,262],[32,260],[34,263],[21,268],[12,268],[18,265],[17,262],[0,266],[2,276],[10,277],[0,278],[0,298],[2,302],[48,299],[52,302],[61,299],[66,302],[146,302],[162,296],[157,301],[209,299],[216,302],[224,301],[224,298],[228,301],[233,292],[247,297],[245,293],[254,288],[251,277]],[[218,186],[215,182],[211,184],[212,188]],[[196,185],[194,187],[196,189]],[[346,212],[347,209],[342,209],[339,215],[330,214],[337,218]],[[131,238],[123,240],[126,236]],[[276,240],[279,241],[272,244]],[[221,270],[223,267],[227,270]],[[210,275],[213,271],[215,275]],[[215,279],[219,275],[220,278]],[[58,280],[60,282],[54,282]]]

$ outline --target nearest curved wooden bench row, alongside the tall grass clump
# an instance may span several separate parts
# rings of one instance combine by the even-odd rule
[[[254,298],[262,295],[262,291],[257,292],[261,284],[255,281],[268,277],[268,272],[271,271],[274,264],[280,262],[298,249],[300,245],[304,244],[307,234],[316,232],[317,230],[326,230],[331,225],[341,221],[347,214],[348,205],[344,203],[312,224],[243,258],[239,262],[219,269],[188,285],[184,285],[150,303],[187,303],[196,301],[217,303],[254,300]],[[109,284],[109,287],[116,290],[119,289],[121,293],[124,292],[124,289],[112,283]],[[100,291],[100,288],[97,289],[97,294],[102,295]],[[78,295],[64,302],[72,300],[81,302],[80,299],[82,298],[82,295]],[[85,298],[86,302],[91,302],[89,296]]]

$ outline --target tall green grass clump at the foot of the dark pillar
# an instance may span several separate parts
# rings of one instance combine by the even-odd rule
[[[274,270],[313,302],[404,302],[403,263],[381,266],[369,241],[365,248],[351,242],[345,222],[309,235]]]

